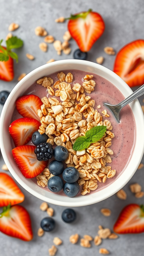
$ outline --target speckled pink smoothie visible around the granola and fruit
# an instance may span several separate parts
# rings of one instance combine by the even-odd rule
[[[72,87],[75,83],[80,83],[82,85],[84,81],[83,77],[85,77],[86,74],[91,74],[91,73],[80,71],[80,70],[71,70],[71,71],[64,70],[63,72],[65,74],[67,74],[68,72],[71,72],[73,74],[74,80],[73,80],[73,83],[71,83]],[[48,77],[53,78],[54,83],[58,80],[57,73],[48,75]],[[107,110],[110,117],[104,118],[104,119],[107,119],[111,122],[113,126],[113,129],[111,131],[115,134],[115,137],[112,138],[112,145],[110,147],[111,150],[114,152],[114,155],[111,155],[112,162],[106,165],[110,165],[111,169],[116,169],[116,175],[113,178],[109,178],[109,179],[107,178],[105,183],[98,182],[98,188],[96,190],[98,191],[100,189],[107,187],[112,182],[114,182],[114,180],[116,180],[119,177],[119,175],[121,175],[121,173],[124,172],[126,166],[128,165],[132,157],[133,149],[135,146],[136,124],[135,124],[135,119],[134,119],[132,110],[129,105],[125,106],[121,110],[120,122],[117,123],[117,121],[115,120],[110,110],[107,109],[106,106],[104,106],[104,103],[117,104],[122,100],[124,100],[124,96],[108,80],[102,78],[101,76],[98,76],[97,74],[93,74],[93,76],[94,76],[93,80],[96,82],[95,90],[91,92],[91,94],[86,94],[86,93],[85,94],[90,95],[91,99],[95,100],[96,104],[94,109],[97,109],[97,106],[101,105],[101,108],[97,109],[101,115],[102,115],[101,113],[102,110],[104,109]],[[41,85],[38,85],[37,82],[33,83],[24,94],[35,94],[39,98],[42,98],[44,96],[52,97],[51,95],[48,94],[47,88],[44,88]],[[59,97],[57,98],[60,101]],[[17,110],[15,110],[12,117],[12,121],[21,117],[22,116],[17,112]],[[32,144],[32,142],[28,144]],[[14,144],[13,144],[13,148],[14,148]],[[36,178],[33,178],[32,180],[36,183]],[[49,191],[48,188],[44,188],[44,189]],[[90,193],[92,192],[93,191],[91,191]],[[64,193],[61,191],[59,192],[59,194],[64,195]]]

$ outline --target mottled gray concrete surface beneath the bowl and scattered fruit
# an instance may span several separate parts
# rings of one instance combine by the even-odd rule
[[[112,70],[115,56],[106,55],[103,48],[105,46],[112,46],[117,52],[128,42],[143,38],[143,0],[0,0],[0,39],[5,39],[8,34],[9,24],[15,22],[19,24],[19,28],[13,32],[13,35],[24,40],[23,48],[16,50],[19,55],[19,62],[15,64],[15,78],[12,82],[0,80],[0,91],[3,89],[11,91],[16,85],[17,78],[21,73],[29,73],[33,69],[45,64],[50,58],[54,58],[55,60],[73,58],[73,51],[77,48],[74,40],[70,41],[72,48],[70,55],[62,54],[61,56],[57,56],[53,45],[50,44],[48,45],[48,51],[45,53],[40,51],[38,47],[38,44],[43,41],[43,38],[37,37],[34,29],[36,26],[43,26],[49,35],[53,35],[55,39],[62,41],[62,36],[67,30],[67,23],[57,24],[54,20],[59,16],[68,17],[71,13],[85,11],[89,8],[102,15],[106,28],[104,34],[89,51],[88,60],[95,62],[96,58],[102,55],[105,58],[103,66]],[[27,52],[35,56],[34,61],[30,61],[25,57]],[[135,89],[133,88],[133,90]],[[143,98],[141,97],[139,99],[141,104],[143,104]],[[2,109],[2,106],[0,108]],[[3,163],[3,158],[0,155],[0,167]],[[144,159],[142,159],[142,163],[144,163]],[[25,194],[25,201],[22,205],[30,213],[34,239],[30,242],[24,242],[0,233],[0,255],[47,256],[48,248],[52,246],[53,238],[57,236],[63,240],[63,244],[58,247],[56,254],[58,256],[94,256],[99,255],[99,248],[107,248],[110,254],[114,256],[142,256],[143,234],[120,235],[117,240],[103,240],[102,244],[98,247],[94,246],[92,242],[92,246],[89,249],[81,247],[80,242],[75,245],[70,244],[69,236],[79,233],[80,237],[83,237],[84,234],[94,237],[97,234],[98,225],[112,229],[119,212],[125,205],[130,203],[144,203],[143,198],[136,199],[129,190],[129,185],[135,182],[138,182],[144,190],[143,179],[144,168],[137,170],[129,183],[124,187],[127,193],[127,199],[125,201],[113,195],[97,204],[75,208],[78,217],[76,222],[70,225],[61,220],[61,212],[64,210],[64,207],[50,205],[55,211],[54,219],[57,223],[57,228],[55,231],[45,233],[41,238],[37,236],[37,230],[40,220],[47,216],[45,212],[39,210],[42,201],[30,195],[19,186]],[[101,208],[107,207],[112,211],[110,217],[104,217],[100,213]]]

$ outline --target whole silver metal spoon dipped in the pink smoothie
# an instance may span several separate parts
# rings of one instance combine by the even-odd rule
[[[139,89],[137,89],[135,92],[133,92],[129,97],[127,97],[125,100],[118,103],[117,105],[110,105],[108,103],[104,103],[104,105],[107,106],[112,111],[117,122],[119,123],[119,116],[120,116],[121,109],[124,106],[126,106],[127,104],[129,104],[131,101],[137,99],[143,93],[144,93],[144,84]]]

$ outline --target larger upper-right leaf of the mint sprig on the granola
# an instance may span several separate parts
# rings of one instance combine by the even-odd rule
[[[98,125],[86,132],[86,138],[88,138],[91,143],[94,143],[96,141],[99,141],[104,136],[106,130],[107,126]]]

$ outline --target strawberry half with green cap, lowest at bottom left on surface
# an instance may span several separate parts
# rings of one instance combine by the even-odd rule
[[[0,214],[0,231],[24,241],[32,240],[33,231],[27,210],[20,205],[4,207]]]

